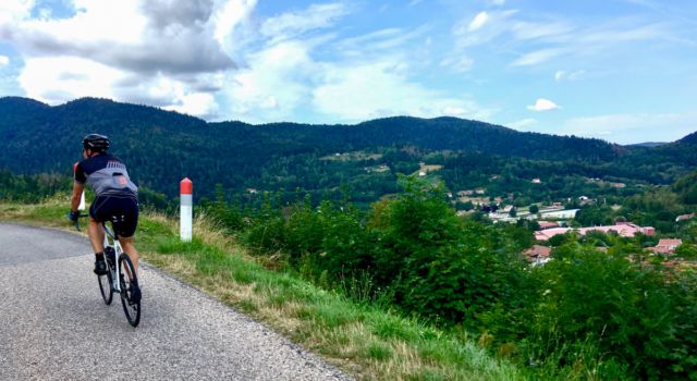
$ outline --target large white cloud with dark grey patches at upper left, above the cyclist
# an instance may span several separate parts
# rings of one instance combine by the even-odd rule
[[[216,91],[235,67],[229,36],[256,0],[72,0],[72,16],[51,19],[33,1],[0,4],[0,39],[25,65],[17,83],[49,103],[95,96],[198,116],[220,111]]]

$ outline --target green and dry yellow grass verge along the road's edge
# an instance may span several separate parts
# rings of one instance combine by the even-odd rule
[[[0,204],[0,220],[70,230],[68,199]],[[296,275],[265,268],[205,217],[182,243],[174,221],[143,213],[136,246],[148,263],[262,321],[356,379],[517,380],[515,366],[490,357],[466,334],[355,304]]]

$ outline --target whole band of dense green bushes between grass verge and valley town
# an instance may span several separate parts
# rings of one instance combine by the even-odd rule
[[[258,210],[223,198],[206,210],[265,261],[469,332],[534,377],[697,377],[696,273],[648,256],[650,237],[566,235],[552,261],[530,267],[525,221],[458,218],[442,188],[415,177],[368,211],[345,198],[315,207],[272,195]]]

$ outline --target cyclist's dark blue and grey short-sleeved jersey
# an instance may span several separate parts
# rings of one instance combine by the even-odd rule
[[[98,155],[81,161],[75,168],[75,181],[89,184],[97,196],[137,197],[138,187],[129,177],[126,165],[113,155]]]

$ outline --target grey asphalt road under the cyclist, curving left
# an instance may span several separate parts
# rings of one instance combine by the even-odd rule
[[[347,380],[218,300],[142,266],[143,315],[101,300],[84,236],[0,223],[0,380]]]

